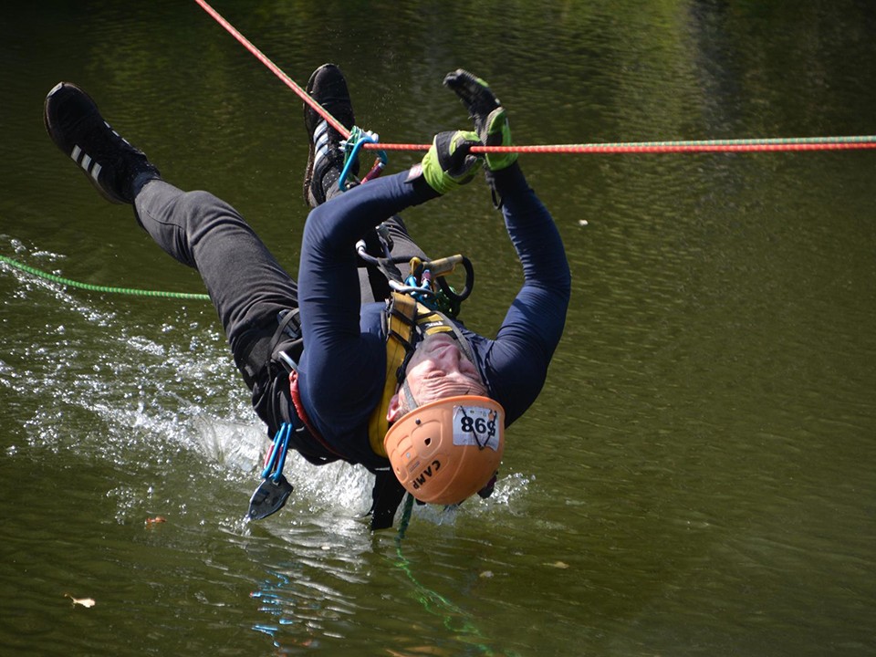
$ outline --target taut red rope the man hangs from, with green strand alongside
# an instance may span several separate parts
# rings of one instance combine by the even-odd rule
[[[301,89],[281,68],[271,61],[265,53],[243,36],[206,0],[194,0],[201,5],[214,20],[249,52],[280,78],[289,89],[295,91],[310,108],[318,113],[328,124],[338,130],[344,139],[349,138],[349,130],[335,119],[308,92]],[[365,143],[362,148],[369,151],[428,151],[431,144],[415,143]],[[561,154],[623,154],[623,153],[704,153],[704,152],[770,152],[770,151],[851,151],[876,149],[876,135],[855,135],[843,137],[788,137],[769,139],[703,140],[703,141],[628,141],[612,143],[515,145],[515,146],[474,146],[473,153],[561,153]]]

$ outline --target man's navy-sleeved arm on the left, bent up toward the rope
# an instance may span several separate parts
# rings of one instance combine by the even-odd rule
[[[327,438],[352,431],[380,395],[385,348],[380,336],[360,326],[355,245],[386,217],[437,196],[406,178],[401,172],[354,187],[319,205],[305,225],[298,302],[306,348],[299,385],[311,420]]]

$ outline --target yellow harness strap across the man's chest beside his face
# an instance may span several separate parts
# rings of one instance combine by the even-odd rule
[[[386,456],[383,438],[390,428],[386,413],[399,385],[399,368],[408,351],[413,349],[414,329],[419,326],[426,335],[454,332],[453,326],[441,313],[423,306],[410,295],[401,292],[392,293],[386,324],[386,381],[383,384],[381,402],[371,412],[368,421],[371,449],[380,456]]]

